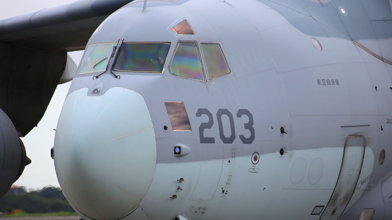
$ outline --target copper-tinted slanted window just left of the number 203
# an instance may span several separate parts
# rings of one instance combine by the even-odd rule
[[[191,131],[191,123],[183,102],[165,102],[173,131]]]

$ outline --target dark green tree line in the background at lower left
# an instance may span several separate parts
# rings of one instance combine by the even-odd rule
[[[45,186],[42,189],[27,190],[24,186],[11,188],[3,198],[0,199],[0,211],[22,209],[26,213],[53,213],[74,212],[60,188]]]

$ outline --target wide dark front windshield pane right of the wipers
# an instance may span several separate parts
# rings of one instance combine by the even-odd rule
[[[114,70],[162,73],[170,44],[168,42],[123,43]]]

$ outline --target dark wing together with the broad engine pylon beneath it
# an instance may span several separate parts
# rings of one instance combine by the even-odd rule
[[[76,73],[67,52],[85,49],[103,20],[129,2],[77,0],[0,20],[0,108],[20,136],[41,120],[57,85],[73,78],[67,71]]]

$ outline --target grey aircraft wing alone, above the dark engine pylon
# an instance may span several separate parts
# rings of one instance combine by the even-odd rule
[[[132,0],[78,0],[0,20],[0,41],[40,51],[81,50],[96,28]]]

